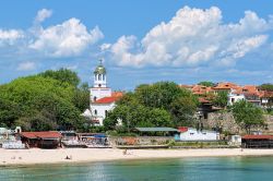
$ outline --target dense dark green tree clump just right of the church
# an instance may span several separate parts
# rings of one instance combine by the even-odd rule
[[[126,94],[105,119],[105,128],[129,132],[135,126],[190,125],[198,100],[188,90],[171,82],[140,85]],[[122,125],[117,126],[121,121]]]

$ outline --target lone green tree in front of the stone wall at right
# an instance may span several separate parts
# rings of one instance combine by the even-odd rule
[[[264,117],[261,108],[250,104],[246,100],[239,100],[232,107],[233,116],[235,121],[250,133],[254,126],[264,125]]]

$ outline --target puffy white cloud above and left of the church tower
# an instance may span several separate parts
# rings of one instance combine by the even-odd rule
[[[80,20],[73,17],[62,24],[40,29],[29,48],[49,57],[78,56],[103,37],[104,34],[97,26],[88,32]]]

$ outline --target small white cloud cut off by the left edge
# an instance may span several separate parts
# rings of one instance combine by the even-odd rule
[[[8,45],[13,45],[17,39],[23,38],[24,33],[23,31],[19,29],[9,29],[9,31],[3,31],[0,29],[0,46],[8,44]]]

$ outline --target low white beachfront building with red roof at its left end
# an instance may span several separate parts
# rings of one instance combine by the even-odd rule
[[[193,128],[180,126],[178,128],[180,135],[175,137],[177,141],[217,141],[219,133],[209,130],[197,130]]]

